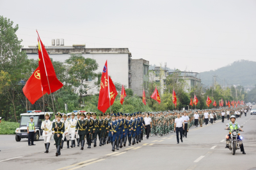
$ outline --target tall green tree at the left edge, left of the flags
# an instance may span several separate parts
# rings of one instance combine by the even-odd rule
[[[16,105],[20,105],[22,80],[26,76],[28,57],[21,50],[22,40],[16,35],[19,26],[13,27],[13,22],[0,16],[0,70],[8,73],[8,89],[3,91],[4,97],[12,102],[14,118],[17,121]],[[24,98],[24,97],[23,97]]]

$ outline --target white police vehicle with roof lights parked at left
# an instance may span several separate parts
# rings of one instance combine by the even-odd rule
[[[47,112],[52,117],[53,112]],[[44,121],[45,112],[42,111],[27,111],[26,113],[20,114],[20,127],[15,130],[15,140],[19,142],[22,138],[28,138],[27,123],[30,121],[30,116],[34,117],[36,133],[34,136],[34,141],[38,141],[39,137],[42,135],[43,130],[41,129],[42,121]]]

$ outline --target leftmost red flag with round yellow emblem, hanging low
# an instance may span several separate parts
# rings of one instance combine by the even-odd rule
[[[24,88],[22,89],[26,98],[28,98],[31,104],[35,104],[36,100],[43,96],[43,93],[47,93],[47,91],[43,91],[42,93],[42,84],[40,78],[40,70],[39,66],[36,68],[35,72],[29,77],[26,82]]]

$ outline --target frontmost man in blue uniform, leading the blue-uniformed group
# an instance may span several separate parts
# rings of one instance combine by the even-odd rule
[[[116,119],[116,114],[113,113],[112,115],[112,121],[109,121],[108,123],[108,128],[109,128],[109,132],[111,132],[111,136],[110,136],[110,141],[112,144],[112,151],[115,151],[115,144],[116,144],[116,135],[117,135],[117,130],[119,128],[119,123]],[[118,148],[116,148],[116,150],[118,150]]]

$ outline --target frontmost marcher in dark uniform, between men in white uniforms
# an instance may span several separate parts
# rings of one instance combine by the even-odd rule
[[[60,155],[60,149],[61,149],[61,139],[62,134],[65,132],[65,126],[64,123],[62,123],[60,120],[62,118],[62,115],[60,113],[57,114],[57,121],[52,123],[52,131],[54,131],[54,141],[56,143],[56,157]]]

